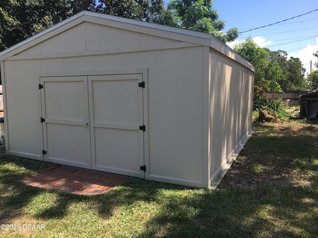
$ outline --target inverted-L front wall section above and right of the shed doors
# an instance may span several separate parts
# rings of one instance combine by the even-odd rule
[[[66,71],[118,65],[148,68],[149,177],[184,185],[191,181],[199,186],[203,167],[202,53],[202,47],[193,47],[68,58],[63,62]]]

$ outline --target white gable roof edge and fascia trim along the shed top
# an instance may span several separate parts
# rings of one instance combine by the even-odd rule
[[[216,37],[212,36],[211,34],[175,28],[156,23],[127,19],[123,17],[111,16],[91,11],[81,11],[73,15],[72,17],[0,52],[0,61],[15,56],[41,42],[44,42],[54,36],[68,31],[83,22],[91,22],[119,28],[122,30],[158,36],[175,41],[207,46],[221,52],[223,55],[226,55],[233,60],[238,61],[245,67],[254,71],[254,67],[247,60],[239,56],[230,47],[221,43]]]

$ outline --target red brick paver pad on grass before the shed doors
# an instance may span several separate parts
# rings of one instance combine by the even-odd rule
[[[100,175],[75,169],[54,167],[24,178],[27,185],[59,190],[79,195],[98,195],[108,192],[126,178]]]

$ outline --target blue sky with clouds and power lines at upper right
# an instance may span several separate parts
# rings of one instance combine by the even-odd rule
[[[213,8],[218,10],[220,19],[226,21],[224,31],[238,27],[242,32],[316,10],[318,0],[214,0]],[[313,53],[318,51],[318,10],[242,33],[234,43],[244,41],[249,36],[261,47],[271,51],[284,50],[288,57],[300,58],[307,72],[310,71],[310,60],[313,70],[317,69],[314,62],[318,58]]]

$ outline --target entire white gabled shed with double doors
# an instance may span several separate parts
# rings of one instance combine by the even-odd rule
[[[82,11],[0,53],[6,153],[213,187],[254,67],[210,34]]]

